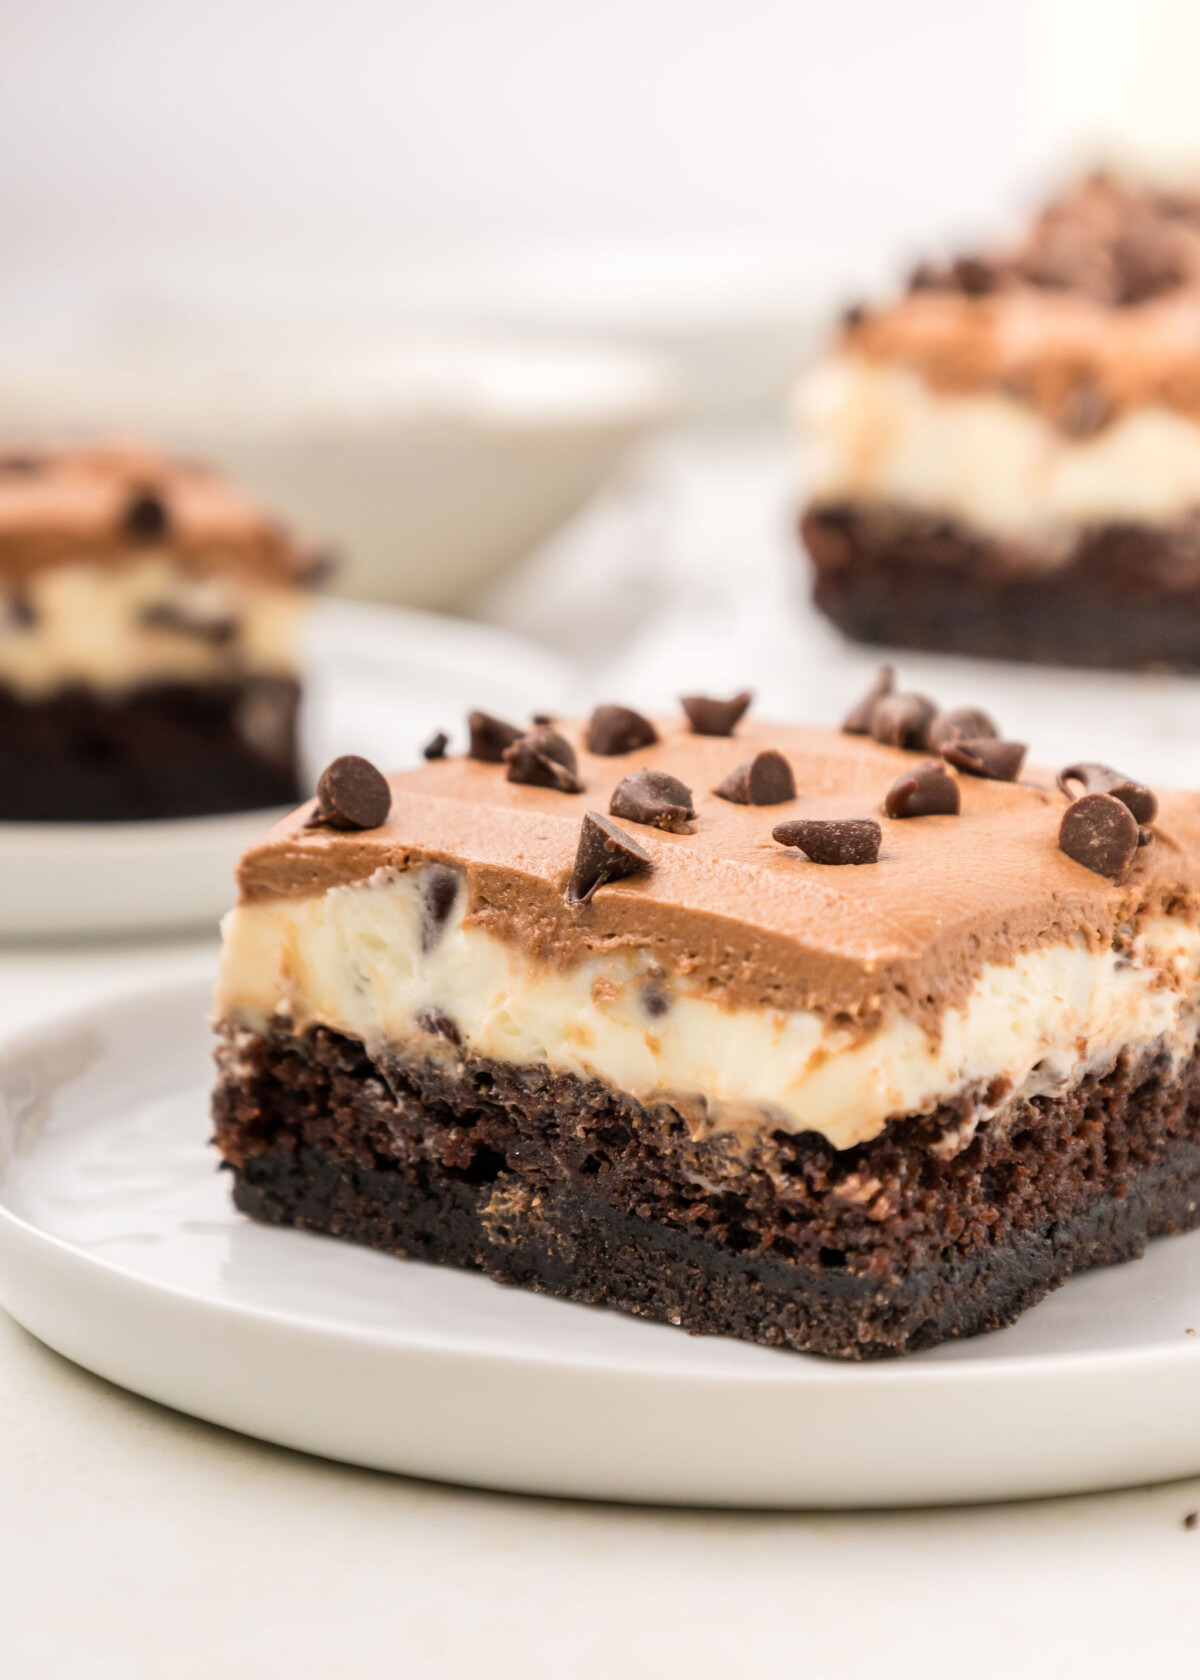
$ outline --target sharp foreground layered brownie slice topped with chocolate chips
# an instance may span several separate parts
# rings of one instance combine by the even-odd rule
[[[338,761],[247,852],[237,1206],[844,1359],[1195,1225],[1200,800],[887,672],[840,734],[687,704]]]

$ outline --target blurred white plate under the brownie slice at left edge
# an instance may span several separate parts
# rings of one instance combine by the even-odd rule
[[[339,753],[398,769],[472,706],[555,709],[561,660],[503,630],[434,613],[319,601],[301,722],[309,781]],[[279,811],[148,823],[0,823],[0,936],[156,932],[213,922],[234,865]]]

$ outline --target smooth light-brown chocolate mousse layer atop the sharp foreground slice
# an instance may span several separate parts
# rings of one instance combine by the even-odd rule
[[[1200,798],[1163,793],[1171,845],[1136,852],[1113,880],[1059,850],[1064,805],[1054,774],[1020,783],[943,776],[960,793],[955,822],[879,815],[879,862],[849,874],[798,867],[771,838],[771,818],[711,790],[741,759],[782,753],[800,788],[783,818],[840,822],[879,813],[886,790],[909,780],[913,754],[867,736],[748,719],[733,741],[655,719],[644,763],[587,751],[583,727],[558,722],[576,751],[588,806],[607,811],[630,769],[654,769],[692,790],[689,832],[634,830],[654,872],[598,892],[585,916],[563,900],[580,840],[580,803],[555,788],[514,786],[467,756],[422,763],[390,778],[392,816],[368,832],[279,822],[242,858],[242,902],[303,899],[366,882],[380,870],[454,867],[467,926],[568,971],[612,951],[637,951],[669,976],[738,1006],[808,1008],[869,1026],[903,1010],[936,1032],[985,963],[1044,942],[1111,942],[1143,917],[1200,917]],[[1134,825],[1136,827],[1136,825]]]

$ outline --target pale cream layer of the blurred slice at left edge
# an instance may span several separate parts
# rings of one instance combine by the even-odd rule
[[[0,596],[0,684],[37,699],[76,682],[114,694],[146,682],[291,675],[303,608],[301,590],[197,576],[161,554],[45,566],[18,596]]]

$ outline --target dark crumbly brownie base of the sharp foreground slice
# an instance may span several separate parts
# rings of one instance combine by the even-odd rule
[[[215,1141],[255,1220],[839,1359],[998,1329],[1200,1221],[1195,1060],[1012,1104],[950,1158],[963,1107],[840,1154],[785,1132],[739,1154],[598,1082],[452,1050],[382,1065],[318,1028],[240,1033],[220,1065]]]

